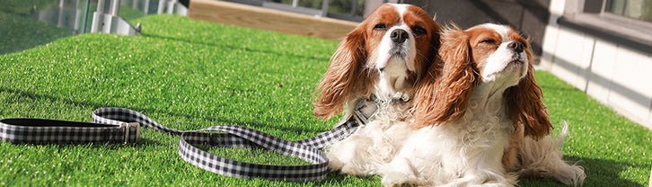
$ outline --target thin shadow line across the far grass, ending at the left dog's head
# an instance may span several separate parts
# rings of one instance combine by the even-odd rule
[[[181,41],[181,42],[192,43],[192,44],[201,44],[201,45],[211,46],[211,47],[215,47],[215,48],[241,49],[241,50],[244,50],[244,51],[247,51],[247,52],[265,53],[265,54],[272,54],[272,55],[278,55],[278,56],[287,56],[287,57],[293,57],[293,58],[308,58],[308,59],[320,60],[320,61],[329,61],[329,58],[316,58],[316,57],[311,57],[311,56],[297,55],[297,54],[294,54],[294,53],[283,53],[283,52],[274,51],[274,50],[251,49],[251,48],[247,48],[247,47],[233,46],[233,45],[228,45],[228,44],[218,43],[218,42],[207,42],[205,40],[204,41],[188,40],[188,39],[172,38],[172,37],[167,37],[167,36],[159,36],[159,35],[148,34],[148,33],[144,33],[143,36],[150,37],[150,38],[155,38],[155,39],[160,39],[160,40],[177,40],[177,41]]]

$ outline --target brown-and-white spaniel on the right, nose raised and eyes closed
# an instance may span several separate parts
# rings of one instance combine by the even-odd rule
[[[419,83],[414,131],[381,169],[384,185],[514,186],[518,175],[583,183],[583,168],[559,150],[568,125],[550,136],[528,40],[505,25],[453,26],[439,54],[444,65]]]

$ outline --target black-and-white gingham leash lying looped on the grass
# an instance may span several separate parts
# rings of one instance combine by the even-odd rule
[[[13,144],[84,144],[108,142],[135,144],[140,128],[181,135],[179,155],[192,165],[215,174],[274,181],[318,181],[328,174],[328,157],[319,150],[347,138],[368,119],[377,108],[373,102],[358,102],[354,114],[339,126],[313,138],[288,141],[256,129],[219,125],[198,130],[170,129],[144,114],[124,108],[102,108],[93,111],[93,122],[9,118],[0,120],[0,139]],[[364,120],[360,120],[364,119]],[[203,131],[225,133],[207,133]],[[297,156],[311,165],[259,165],[235,161],[210,154],[193,145],[214,147],[263,147],[285,156]]]

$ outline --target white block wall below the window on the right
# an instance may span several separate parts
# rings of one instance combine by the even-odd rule
[[[652,129],[652,56],[560,26],[565,4],[551,1],[538,68]]]

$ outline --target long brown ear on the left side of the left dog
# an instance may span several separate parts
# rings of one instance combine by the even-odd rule
[[[349,97],[357,92],[359,84],[366,82],[362,72],[366,60],[366,36],[363,28],[364,25],[360,25],[348,33],[330,58],[330,67],[315,91],[315,94],[319,94],[313,102],[316,117],[327,120],[337,115],[343,110],[344,104],[353,99]]]

